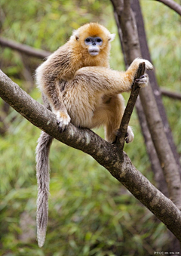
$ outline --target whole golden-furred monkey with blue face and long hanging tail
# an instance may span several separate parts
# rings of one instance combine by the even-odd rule
[[[124,113],[121,93],[130,91],[140,63],[146,69],[153,66],[148,60],[133,60],[126,72],[109,68],[110,42],[115,38],[104,26],[88,23],[72,33],[69,41],[51,54],[36,70],[44,106],[56,114],[60,132],[71,121],[80,128],[103,125],[106,140],[114,143]],[[148,84],[144,74],[137,79],[140,87]],[[133,131],[127,128],[127,143],[133,140]],[[49,162],[53,137],[41,132],[36,147],[38,180],[37,239],[44,245],[48,224]]]

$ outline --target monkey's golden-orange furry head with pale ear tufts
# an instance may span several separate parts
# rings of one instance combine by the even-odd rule
[[[98,23],[87,23],[73,32],[71,40],[84,57],[98,60],[99,57],[107,58],[110,51],[110,42],[115,39],[108,29]]]

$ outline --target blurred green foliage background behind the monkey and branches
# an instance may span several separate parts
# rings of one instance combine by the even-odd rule
[[[158,83],[171,91],[180,91],[180,17],[158,2],[141,4]],[[108,0],[29,0],[26,4],[23,0],[1,0],[0,7],[2,36],[47,51],[56,50],[69,39],[72,29],[90,21],[117,32]],[[22,56],[9,48],[0,48],[0,53],[1,69],[41,102],[38,89],[29,88],[26,81]],[[26,57],[26,62],[32,73],[41,63],[32,57]],[[113,69],[124,69],[118,35],[112,42],[110,63]],[[124,96],[127,98],[127,94]],[[163,100],[180,154],[181,103]],[[38,248],[35,147],[40,131],[13,109],[4,110],[1,100],[0,116],[7,130],[0,137],[1,255],[113,256],[167,251],[166,227],[94,159],[57,141],[50,156],[47,239],[44,247]],[[124,150],[154,184],[136,113],[131,125],[135,140]],[[102,129],[96,132],[103,136]]]

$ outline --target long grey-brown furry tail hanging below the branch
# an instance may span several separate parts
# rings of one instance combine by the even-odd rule
[[[44,245],[48,224],[48,194],[49,194],[49,152],[54,138],[41,132],[36,147],[36,177],[38,182],[38,199],[36,212],[38,246]]]

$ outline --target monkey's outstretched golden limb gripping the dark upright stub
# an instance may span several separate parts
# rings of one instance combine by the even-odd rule
[[[80,85],[83,90],[86,88],[90,94],[99,92],[120,94],[124,91],[130,91],[139,64],[143,62],[146,63],[146,69],[153,69],[152,63],[140,58],[133,60],[126,72],[106,69],[100,66],[84,67],[75,73],[72,85]],[[148,83],[148,76],[144,75],[138,82],[140,87],[145,87]]]

